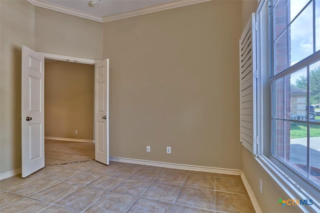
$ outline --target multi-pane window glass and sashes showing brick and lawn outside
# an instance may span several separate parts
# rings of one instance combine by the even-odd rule
[[[320,188],[320,0],[272,0],[271,155]]]

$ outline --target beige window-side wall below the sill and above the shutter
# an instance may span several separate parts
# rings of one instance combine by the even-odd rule
[[[255,12],[257,7],[256,0],[242,1],[242,29],[244,28],[251,12]],[[244,147],[242,151],[242,171],[257,199],[262,212],[300,212],[297,206],[281,207],[277,204],[279,198],[289,199],[280,186],[271,176],[260,166],[256,158]],[[259,190],[259,178],[263,182],[263,194]]]

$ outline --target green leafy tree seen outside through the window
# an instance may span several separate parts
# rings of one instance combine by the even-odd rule
[[[309,72],[310,78],[310,104],[318,104],[320,102],[320,66],[316,66]],[[306,76],[300,76],[295,80],[295,85],[299,88],[306,88]]]

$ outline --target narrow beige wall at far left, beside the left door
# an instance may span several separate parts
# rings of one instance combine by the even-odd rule
[[[34,6],[1,0],[0,173],[21,167],[21,45],[34,48]]]

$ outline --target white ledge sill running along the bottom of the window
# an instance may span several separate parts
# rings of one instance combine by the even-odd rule
[[[312,205],[298,205],[303,212],[320,212],[318,198],[312,197],[264,155],[255,155],[254,158],[290,198],[302,200],[312,199]]]

